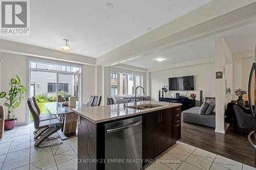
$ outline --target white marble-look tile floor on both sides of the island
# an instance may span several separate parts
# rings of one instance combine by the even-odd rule
[[[0,141],[0,169],[77,169],[77,137],[64,140],[63,144],[45,149],[34,149],[33,124],[19,126],[4,132]],[[46,141],[44,145],[58,139]],[[189,144],[177,142],[158,156],[146,170],[211,169],[247,170],[256,169],[237,161],[201,150]]]

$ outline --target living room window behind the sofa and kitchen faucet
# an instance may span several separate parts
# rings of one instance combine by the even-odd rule
[[[137,86],[143,86],[142,75],[129,74],[125,72],[111,72],[111,95],[134,95],[134,89]],[[138,95],[142,90],[138,90]]]

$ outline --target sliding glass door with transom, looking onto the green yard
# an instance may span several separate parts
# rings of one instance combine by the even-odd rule
[[[48,113],[44,104],[56,102],[58,95],[76,96],[80,101],[80,72],[80,67],[29,62],[29,97],[35,96],[41,114]]]

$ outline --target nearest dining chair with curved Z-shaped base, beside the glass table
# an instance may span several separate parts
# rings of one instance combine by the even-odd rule
[[[58,130],[60,130],[62,128],[62,123],[60,122],[60,120],[58,118],[52,118],[49,120],[39,120],[39,113],[37,112],[36,107],[33,105],[33,99],[28,99],[28,107],[29,110],[33,116],[34,119],[34,128],[37,130],[38,132],[36,133],[36,135],[34,136],[34,140],[36,140],[34,147],[35,148],[47,148],[50,147],[50,145],[46,146],[46,147],[40,147],[40,144],[42,142],[44,142],[45,140],[49,140],[51,139],[50,136],[54,133],[56,133]],[[54,137],[56,138],[56,137]],[[51,146],[53,145],[57,145],[57,144],[61,144],[61,142],[57,142],[54,144],[51,144]]]

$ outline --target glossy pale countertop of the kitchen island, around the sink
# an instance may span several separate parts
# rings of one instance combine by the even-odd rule
[[[76,108],[72,109],[78,115],[90,120],[93,123],[102,123],[109,120],[114,120],[123,117],[129,117],[134,115],[139,115],[143,113],[148,113],[152,111],[162,110],[166,108],[181,106],[179,103],[168,103],[168,102],[156,102],[156,101],[143,101],[137,102],[137,105],[141,104],[155,104],[161,105],[160,107],[136,110],[132,108],[123,107],[123,104],[107,105],[107,106],[97,106],[88,107],[87,105],[77,105]],[[126,106],[134,106],[134,103],[126,103]]]

